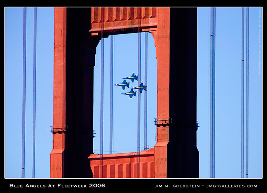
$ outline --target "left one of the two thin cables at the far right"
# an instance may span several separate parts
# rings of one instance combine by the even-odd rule
[[[241,54],[241,178],[244,177],[244,7],[242,7],[242,54]]]

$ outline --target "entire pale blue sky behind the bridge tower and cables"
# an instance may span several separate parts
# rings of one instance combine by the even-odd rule
[[[249,177],[262,177],[261,8],[250,8],[249,31]],[[37,8],[36,163],[35,177],[50,177],[53,125],[54,9]],[[114,84],[137,74],[138,34],[114,36]],[[94,69],[94,152],[100,152],[100,47]],[[109,151],[110,38],[104,40],[104,153]],[[5,177],[21,177],[23,8],[5,8]],[[144,82],[144,33],[141,80]],[[209,177],[210,132],[210,8],[198,8],[197,147],[199,173]],[[25,177],[32,177],[33,130],[33,8],[27,8]],[[156,143],[157,60],[148,34],[147,144]],[[130,83],[137,86],[137,83]],[[128,91],[127,88],[125,91]],[[137,97],[118,86],[114,96],[114,153],[134,152],[137,146]],[[215,177],[241,175],[241,8],[216,9]],[[144,95],[141,95],[143,104]],[[141,105],[141,149],[143,147]]]

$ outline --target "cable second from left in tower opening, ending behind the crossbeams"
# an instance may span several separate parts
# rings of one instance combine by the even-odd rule
[[[110,36],[110,113],[109,113],[109,153],[112,154],[113,126],[113,35]]]

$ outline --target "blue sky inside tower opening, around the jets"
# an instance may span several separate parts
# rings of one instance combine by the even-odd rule
[[[132,73],[138,75],[138,33],[114,35],[113,56],[113,153],[137,152],[137,95],[130,99],[127,93],[132,87],[137,87],[137,81],[132,83],[124,77]],[[141,33],[141,82],[144,83],[145,73],[145,33]],[[109,153],[110,143],[110,44],[111,36],[104,38],[104,113],[103,113],[103,154]],[[141,150],[144,147],[144,93],[147,92],[147,145],[154,147],[157,116],[157,59],[155,57],[154,38],[148,33],[148,75],[147,91],[141,93]],[[100,80],[101,80],[101,40],[97,46],[94,67],[94,130],[93,152],[100,154]],[[121,86],[123,80],[129,82],[129,88]],[[137,91],[137,90],[134,90]],[[138,91],[137,91],[138,92]]]

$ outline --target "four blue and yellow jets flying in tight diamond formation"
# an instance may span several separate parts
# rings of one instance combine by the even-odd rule
[[[138,75],[134,75],[134,72],[133,72],[132,76],[124,77],[123,79],[130,79],[132,81],[132,83],[134,83],[134,80],[138,81]],[[125,87],[129,88],[129,84],[130,84],[130,82],[126,82],[126,80],[123,80],[123,82],[121,84],[114,84],[114,85],[115,86],[121,86],[122,90],[125,90]],[[136,97],[137,91],[134,91],[134,89],[137,89],[140,91],[140,93],[142,93],[143,90],[147,91],[147,85],[143,85],[143,83],[141,83],[140,86],[132,87],[129,92],[121,93],[121,94],[128,95],[130,97],[130,99],[132,99],[133,96]]]

